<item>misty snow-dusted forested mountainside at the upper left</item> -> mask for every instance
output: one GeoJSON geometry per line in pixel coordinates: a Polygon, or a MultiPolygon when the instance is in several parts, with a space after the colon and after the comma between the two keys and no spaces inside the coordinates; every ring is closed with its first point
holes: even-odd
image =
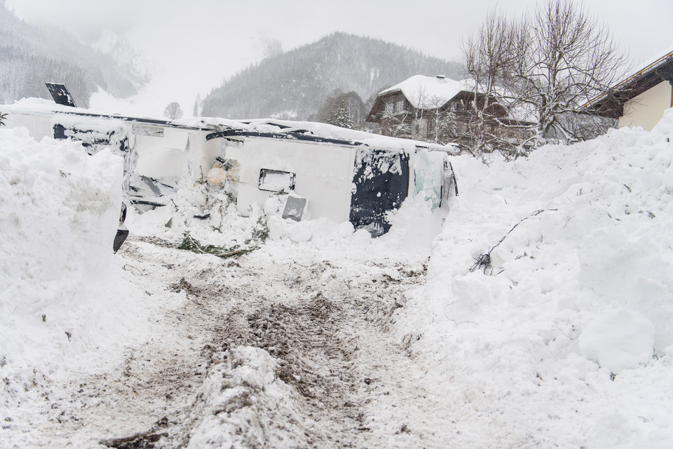
{"type": "Polygon", "coordinates": [[[65,83],[81,107],[88,106],[97,86],[125,98],[137,93],[142,82],[111,56],[94,51],[73,36],[20,20],[0,0],[0,103],[24,97],[50,98],[46,81],[65,83]]]}

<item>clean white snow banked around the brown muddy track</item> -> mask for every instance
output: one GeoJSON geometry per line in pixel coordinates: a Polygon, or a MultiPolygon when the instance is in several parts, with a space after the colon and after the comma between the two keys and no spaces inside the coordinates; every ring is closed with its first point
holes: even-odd
{"type": "MultiPolygon", "coordinates": [[[[348,223],[272,216],[266,243],[236,263],[261,271],[280,270],[274,265],[289,260],[304,267],[332,263],[323,273],[329,276],[316,281],[339,307],[348,304],[338,302],[343,286],[330,279],[366,286],[362,291],[373,301],[383,287],[374,279],[399,280],[404,270],[394,267],[417,272],[427,263],[417,285],[395,290],[402,297],[384,326],[376,325],[377,337],[362,337],[366,328],[354,326],[362,329],[358,335],[369,368],[400,378],[397,387],[387,387],[393,398],[402,401],[412,384],[428,392],[425,398],[425,393],[407,397],[408,406],[397,403],[408,416],[409,434],[406,423],[395,429],[372,424],[396,409],[384,401],[388,395],[361,392],[372,399],[362,408],[362,420],[374,429],[376,438],[369,441],[378,447],[401,444],[400,435],[409,435],[417,438],[409,444],[438,448],[668,448],[673,441],[671,138],[673,109],[651,132],[611,130],[590,142],[542,147],[514,162],[458,156],[452,163],[461,195],[446,216],[409,199],[379,239],[353,232],[348,223]],[[489,251],[491,264],[472,270],[489,251]],[[377,354],[379,339],[412,361],[406,371],[400,370],[402,361],[377,354]],[[429,438],[433,426],[437,434],[429,438]]],[[[53,420],[46,424],[53,412],[46,410],[45,397],[67,397],[64,385],[72,378],[109,375],[129,352],[159,335],[167,351],[171,344],[184,344],[167,337],[165,317],[187,307],[189,295],[167,290],[166,273],[179,279],[179,272],[172,272],[179,269],[196,276],[199,264],[216,264],[228,273],[228,265],[212,256],[172,248],[161,249],[161,257],[177,260],[175,267],[149,264],[144,260],[159,257],[151,243],[130,241],[127,255],[123,250],[111,255],[121,201],[117,186],[121,160],[108,152],[86,156],[73,142],[37,143],[25,130],[0,129],[0,447],[48,445],[53,436],[45,432],[59,427],[53,420]]],[[[178,241],[189,229],[202,241],[227,246],[249,239],[262,212],[250,218],[220,213],[216,232],[212,223],[193,218],[205,204],[217,207],[192,206],[203,201],[202,188],[179,192],[176,210],[130,214],[132,234],[178,241]],[[171,216],[172,227],[165,227],[171,216]]],[[[245,279],[243,290],[273,287],[264,284],[268,279],[241,273],[231,265],[233,281],[239,275],[245,279]]],[[[254,344],[232,350],[229,357],[240,364],[218,363],[202,373],[208,381],[193,393],[206,399],[193,410],[224,401],[205,391],[218,370],[229,370],[231,379],[243,382],[239,385],[273,385],[260,388],[290,410],[285,416],[299,413],[292,382],[274,377],[278,357],[254,344]],[[240,367],[245,373],[236,371],[240,367]]],[[[355,360],[364,369],[364,359],[355,360]]],[[[101,401],[114,401],[115,394],[110,390],[101,401]]],[[[264,405],[274,407],[273,401],[264,405]]],[[[292,425],[302,422],[290,418],[292,425]]],[[[142,431],[138,423],[147,430],[148,419],[121,422],[115,431],[142,431]]],[[[229,441],[227,432],[235,427],[222,422],[206,426],[210,434],[199,433],[198,422],[195,418],[191,428],[195,442],[212,432],[220,432],[218,441],[229,441]]],[[[273,445],[311,444],[293,441],[293,434],[301,435],[295,430],[274,434],[273,445]]],[[[64,430],[57,441],[90,447],[92,437],[81,432],[64,430]]]]}

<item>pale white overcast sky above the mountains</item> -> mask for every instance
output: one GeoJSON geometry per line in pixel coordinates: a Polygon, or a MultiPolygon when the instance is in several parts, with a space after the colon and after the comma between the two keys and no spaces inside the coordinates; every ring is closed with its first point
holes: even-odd
{"type": "MultiPolygon", "coordinates": [[[[461,39],[489,8],[518,17],[534,0],[6,0],[24,20],[93,39],[104,29],[125,33],[163,83],[208,93],[226,77],[263,58],[266,43],[287,51],[344,31],[460,60],[461,39]],[[186,81],[191,87],[186,88],[186,81]]],[[[586,0],[590,13],[638,65],[673,45],[673,0],[586,0]]],[[[186,93],[185,93],[186,97],[186,93]]],[[[193,101],[193,100],[192,100],[193,101]]],[[[189,107],[191,109],[191,106],[189,107]]]]}

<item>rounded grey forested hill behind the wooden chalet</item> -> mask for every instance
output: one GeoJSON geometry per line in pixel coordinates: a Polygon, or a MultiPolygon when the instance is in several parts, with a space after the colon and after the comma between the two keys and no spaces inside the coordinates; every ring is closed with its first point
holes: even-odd
{"type": "Polygon", "coordinates": [[[461,65],[379,39],[334,33],[239,72],[205,97],[201,114],[320,119],[318,110],[335,91],[353,91],[371,105],[373,95],[416,74],[459,78],[461,65]]]}

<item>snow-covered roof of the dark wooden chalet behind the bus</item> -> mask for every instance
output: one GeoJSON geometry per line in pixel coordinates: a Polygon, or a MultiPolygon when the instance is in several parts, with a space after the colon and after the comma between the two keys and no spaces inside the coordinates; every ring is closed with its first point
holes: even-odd
{"type": "Polygon", "coordinates": [[[395,91],[405,95],[416,109],[436,109],[442,107],[463,91],[474,90],[472,79],[456,81],[445,76],[414,75],[399,84],[379,93],[379,97],[395,91]]]}

